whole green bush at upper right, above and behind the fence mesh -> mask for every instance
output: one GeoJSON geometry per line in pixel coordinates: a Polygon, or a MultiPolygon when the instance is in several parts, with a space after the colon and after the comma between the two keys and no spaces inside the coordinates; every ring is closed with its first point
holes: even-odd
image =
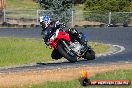
{"type": "MultiPolygon", "coordinates": [[[[108,23],[109,12],[132,11],[131,0],[86,0],[84,10],[92,13],[84,13],[84,18],[89,21],[108,23]]],[[[111,23],[124,23],[131,17],[131,14],[113,13],[111,23]]]]}

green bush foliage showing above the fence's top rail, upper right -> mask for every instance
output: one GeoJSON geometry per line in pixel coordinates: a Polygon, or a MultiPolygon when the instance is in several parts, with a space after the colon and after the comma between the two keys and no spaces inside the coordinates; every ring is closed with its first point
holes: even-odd
{"type": "Polygon", "coordinates": [[[119,12],[130,11],[131,0],[86,0],[85,10],[119,12]]]}

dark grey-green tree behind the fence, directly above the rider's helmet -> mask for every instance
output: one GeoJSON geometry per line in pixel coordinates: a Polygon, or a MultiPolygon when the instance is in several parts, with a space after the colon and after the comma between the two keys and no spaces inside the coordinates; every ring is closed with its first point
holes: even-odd
{"type": "Polygon", "coordinates": [[[50,10],[47,14],[54,20],[69,22],[71,17],[72,0],[39,0],[41,9],[50,10]]]}

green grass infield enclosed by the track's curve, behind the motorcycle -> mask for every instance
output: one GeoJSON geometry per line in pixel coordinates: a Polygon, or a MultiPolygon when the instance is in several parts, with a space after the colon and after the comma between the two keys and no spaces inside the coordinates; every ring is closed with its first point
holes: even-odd
{"type": "MultiPolygon", "coordinates": [[[[96,53],[105,52],[109,48],[95,42],[90,42],[90,45],[96,53]]],[[[41,39],[0,38],[0,67],[51,61],[51,52],[41,39]]]]}

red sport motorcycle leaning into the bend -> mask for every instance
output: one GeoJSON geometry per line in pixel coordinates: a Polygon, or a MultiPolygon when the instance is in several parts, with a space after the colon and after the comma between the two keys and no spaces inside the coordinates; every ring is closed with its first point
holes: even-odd
{"type": "Polygon", "coordinates": [[[79,58],[95,59],[95,52],[87,44],[86,35],[78,33],[76,29],[71,28],[68,31],[64,31],[63,28],[56,29],[48,42],[49,46],[54,48],[52,59],[58,60],[64,57],[71,63],[79,58]]]}

